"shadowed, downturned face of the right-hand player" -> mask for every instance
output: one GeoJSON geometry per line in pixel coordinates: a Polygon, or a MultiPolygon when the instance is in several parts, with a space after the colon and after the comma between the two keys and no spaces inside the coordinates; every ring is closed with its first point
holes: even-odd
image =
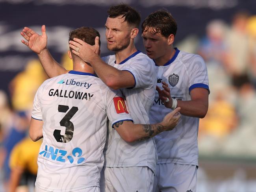
{"type": "Polygon", "coordinates": [[[143,38],[143,44],[146,53],[150,59],[160,59],[169,54],[168,38],[163,37],[160,33],[150,33],[150,30],[143,31],[141,37],[143,38]]]}

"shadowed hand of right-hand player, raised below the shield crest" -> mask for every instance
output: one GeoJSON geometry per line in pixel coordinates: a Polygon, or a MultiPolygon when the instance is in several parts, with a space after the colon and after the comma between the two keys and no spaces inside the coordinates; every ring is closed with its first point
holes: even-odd
{"type": "Polygon", "coordinates": [[[171,99],[171,92],[170,88],[168,87],[168,84],[164,81],[162,82],[163,89],[160,89],[158,86],[156,86],[156,90],[158,91],[160,100],[164,103],[165,107],[170,108],[173,105],[173,100],[171,99]]]}

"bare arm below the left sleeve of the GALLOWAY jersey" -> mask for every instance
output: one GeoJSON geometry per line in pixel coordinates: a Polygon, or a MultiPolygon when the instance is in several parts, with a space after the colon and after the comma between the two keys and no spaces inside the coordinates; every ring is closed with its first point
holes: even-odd
{"type": "Polygon", "coordinates": [[[31,118],[29,127],[29,136],[33,141],[43,138],[43,121],[31,118]]]}

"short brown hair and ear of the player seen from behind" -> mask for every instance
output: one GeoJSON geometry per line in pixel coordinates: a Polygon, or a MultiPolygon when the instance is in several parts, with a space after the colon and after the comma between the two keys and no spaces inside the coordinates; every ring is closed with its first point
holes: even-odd
{"type": "MultiPolygon", "coordinates": [[[[95,45],[95,37],[97,36],[100,37],[100,33],[97,30],[91,27],[80,27],[73,31],[70,31],[69,41],[73,41],[74,38],[78,38],[90,45],[95,45]]],[[[100,45],[100,39],[99,39],[99,45],[100,45]]],[[[69,48],[69,49],[70,49],[69,55],[71,54],[71,57],[73,59],[77,58],[78,56],[72,53],[73,49],[72,48],[69,48]]]]}

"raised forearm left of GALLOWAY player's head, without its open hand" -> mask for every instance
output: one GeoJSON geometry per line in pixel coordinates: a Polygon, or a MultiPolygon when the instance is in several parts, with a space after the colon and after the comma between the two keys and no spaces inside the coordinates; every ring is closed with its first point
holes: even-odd
{"type": "Polygon", "coordinates": [[[63,66],[59,65],[57,61],[55,61],[48,49],[44,49],[40,54],[37,55],[49,78],[67,73],[67,70],[65,70],[63,66]]]}

